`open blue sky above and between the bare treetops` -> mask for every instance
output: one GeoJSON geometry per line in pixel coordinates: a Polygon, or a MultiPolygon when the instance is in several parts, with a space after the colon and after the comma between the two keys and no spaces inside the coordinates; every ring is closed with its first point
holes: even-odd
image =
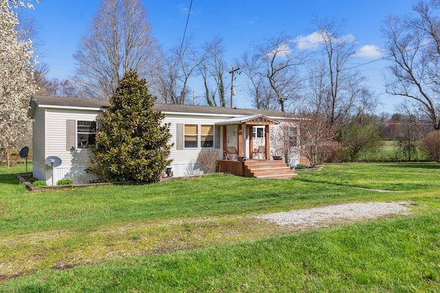
{"type": "MultiPolygon", "coordinates": [[[[50,65],[50,77],[69,78],[74,74],[72,54],[80,37],[87,32],[87,25],[100,0],[44,0],[29,12],[41,25],[44,56],[41,60],[50,65]]],[[[181,42],[184,34],[190,0],[144,0],[155,38],[163,49],[181,42]]],[[[345,34],[351,34],[360,47],[381,48],[384,39],[380,33],[382,21],[388,14],[407,14],[416,1],[409,0],[193,0],[187,35],[192,34],[196,43],[204,43],[214,36],[223,36],[226,49],[225,60],[233,61],[264,37],[286,32],[294,38],[307,40],[313,33],[312,21],[334,19],[345,21],[345,34]],[[373,47],[374,46],[374,47],[373,47]]],[[[38,53],[37,53],[38,54],[38,53]]],[[[353,60],[353,65],[380,58],[363,54],[353,60]]],[[[369,86],[380,96],[383,107],[377,108],[393,113],[398,97],[384,94],[380,70],[386,62],[373,62],[359,69],[369,78],[369,86]]],[[[240,86],[237,81],[237,86],[240,86]]],[[[197,89],[200,91],[201,89],[197,89]]],[[[239,89],[238,89],[239,90],[239,89]]],[[[244,93],[234,97],[234,106],[250,107],[244,93]],[[241,96],[240,96],[241,95],[241,96]]],[[[196,94],[197,95],[197,94],[196,94]]]]}

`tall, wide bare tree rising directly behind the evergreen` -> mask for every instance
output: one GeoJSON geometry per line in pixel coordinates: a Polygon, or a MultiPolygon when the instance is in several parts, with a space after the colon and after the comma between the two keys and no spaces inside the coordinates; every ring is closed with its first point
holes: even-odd
{"type": "Polygon", "coordinates": [[[81,91],[108,99],[128,71],[155,88],[162,53],[140,0],[104,0],[74,54],[81,91]]]}

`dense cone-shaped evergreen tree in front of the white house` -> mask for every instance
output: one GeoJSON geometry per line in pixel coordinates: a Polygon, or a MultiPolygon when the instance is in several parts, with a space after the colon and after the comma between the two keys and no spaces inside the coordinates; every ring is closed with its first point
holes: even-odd
{"type": "Polygon", "coordinates": [[[129,71],[98,119],[95,156],[114,178],[156,182],[171,163],[169,124],[162,124],[164,114],[153,110],[154,101],[146,81],[129,71]]]}

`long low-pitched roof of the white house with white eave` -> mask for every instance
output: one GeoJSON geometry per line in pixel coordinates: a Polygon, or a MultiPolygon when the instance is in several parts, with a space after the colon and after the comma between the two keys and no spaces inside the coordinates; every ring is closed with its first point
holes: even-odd
{"type": "MultiPolygon", "coordinates": [[[[30,102],[28,111],[29,117],[34,117],[35,108],[69,108],[69,109],[90,109],[103,110],[109,106],[109,101],[104,99],[80,99],[76,97],[56,97],[35,95],[30,102]]],[[[225,108],[211,106],[190,106],[178,104],[154,104],[155,110],[163,113],[179,113],[188,115],[221,115],[221,116],[256,116],[264,115],[266,117],[285,117],[285,114],[278,110],[261,110],[261,109],[245,109],[245,108],[225,108]]]]}

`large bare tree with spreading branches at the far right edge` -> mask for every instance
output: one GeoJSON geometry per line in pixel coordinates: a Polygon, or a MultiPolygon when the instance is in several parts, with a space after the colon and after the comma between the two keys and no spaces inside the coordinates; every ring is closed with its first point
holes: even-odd
{"type": "Polygon", "coordinates": [[[388,16],[382,27],[392,64],[386,92],[412,99],[435,129],[440,129],[440,1],[419,1],[415,17],[388,16]]]}

